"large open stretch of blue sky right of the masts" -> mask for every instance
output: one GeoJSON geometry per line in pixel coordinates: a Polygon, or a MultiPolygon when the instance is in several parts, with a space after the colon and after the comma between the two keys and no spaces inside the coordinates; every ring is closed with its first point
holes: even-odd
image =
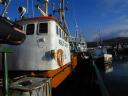
{"type": "Polygon", "coordinates": [[[128,0],[72,0],[81,32],[87,40],[128,37],[128,0]],[[78,2],[79,1],[79,2],[78,2]]]}

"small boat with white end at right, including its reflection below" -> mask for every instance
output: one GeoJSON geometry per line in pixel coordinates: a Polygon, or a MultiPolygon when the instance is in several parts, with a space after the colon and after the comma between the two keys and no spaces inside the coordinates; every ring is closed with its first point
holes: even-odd
{"type": "Polygon", "coordinates": [[[108,54],[105,47],[99,46],[94,49],[94,59],[100,70],[104,71],[105,73],[113,71],[112,54],[108,54]]]}

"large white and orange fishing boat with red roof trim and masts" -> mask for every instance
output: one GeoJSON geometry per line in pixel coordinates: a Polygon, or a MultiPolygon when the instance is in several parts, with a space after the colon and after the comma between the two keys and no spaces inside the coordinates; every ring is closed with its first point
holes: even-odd
{"type": "MultiPolygon", "coordinates": [[[[42,16],[16,21],[25,31],[26,39],[9,56],[9,71],[14,75],[51,78],[52,88],[59,86],[77,65],[77,57],[70,52],[69,33],[65,24],[64,0],[60,0],[60,18],[48,15],[48,0],[44,0],[42,16]]],[[[24,7],[19,8],[20,13],[24,7]]]]}

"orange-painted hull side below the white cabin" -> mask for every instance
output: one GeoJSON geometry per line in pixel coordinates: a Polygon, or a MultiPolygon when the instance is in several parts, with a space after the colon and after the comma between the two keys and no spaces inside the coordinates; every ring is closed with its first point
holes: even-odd
{"type": "Polygon", "coordinates": [[[43,71],[43,72],[37,72],[32,74],[35,76],[35,74],[40,77],[49,77],[51,79],[51,85],[52,88],[56,88],[61,84],[67,76],[70,75],[70,73],[74,70],[74,68],[77,66],[77,56],[72,55],[71,56],[71,63],[70,64],[65,64],[64,66],[56,69],[56,70],[48,70],[48,71],[43,71]]]}

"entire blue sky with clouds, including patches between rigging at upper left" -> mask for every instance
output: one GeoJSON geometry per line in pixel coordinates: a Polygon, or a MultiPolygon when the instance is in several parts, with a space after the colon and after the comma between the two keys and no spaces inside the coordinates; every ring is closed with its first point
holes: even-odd
{"type": "MultiPolygon", "coordinates": [[[[26,6],[27,0],[12,0],[8,16],[18,18],[17,7],[26,6]]],[[[29,15],[32,14],[31,0],[29,15]]],[[[49,0],[53,2],[57,0],[49,0]]],[[[59,0],[58,0],[59,1],[59,0]]],[[[101,33],[103,39],[113,37],[128,37],[128,0],[65,0],[68,11],[66,18],[71,34],[75,31],[75,18],[79,30],[87,41],[95,40],[101,33]]],[[[36,0],[34,0],[36,2],[36,0]]],[[[34,3],[35,5],[35,3],[34,3]]],[[[0,6],[0,12],[3,6],[0,6]]],[[[35,15],[39,12],[35,10],[35,15]]]]}

